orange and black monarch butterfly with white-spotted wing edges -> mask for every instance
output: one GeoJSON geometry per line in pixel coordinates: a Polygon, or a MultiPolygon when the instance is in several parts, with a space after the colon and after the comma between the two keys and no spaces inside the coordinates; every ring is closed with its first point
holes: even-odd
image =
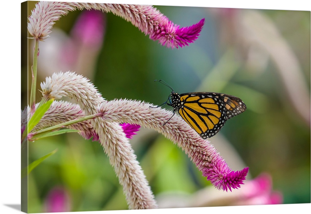
{"type": "MultiPolygon", "coordinates": [[[[172,89],[163,80],[155,81],[165,84],[172,89]]],[[[213,92],[178,94],[173,89],[167,101],[162,105],[165,104],[172,106],[174,114],[177,111],[203,139],[217,134],[227,120],[246,110],[244,102],[232,95],[213,92]]]]}

